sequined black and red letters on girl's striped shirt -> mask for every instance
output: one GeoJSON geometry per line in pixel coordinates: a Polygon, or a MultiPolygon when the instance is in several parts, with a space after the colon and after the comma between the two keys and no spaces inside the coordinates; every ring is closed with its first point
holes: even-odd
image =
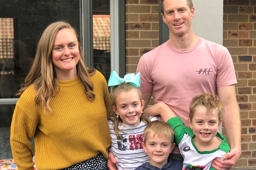
{"type": "MultiPolygon", "coordinates": [[[[118,149],[121,150],[121,151],[125,151],[127,150],[127,145],[128,145],[128,142],[127,142],[127,138],[122,135],[121,136],[123,138],[123,140],[117,140],[117,146],[118,146],[118,149]]],[[[138,150],[138,149],[143,149],[142,147],[142,143],[143,142],[143,135],[142,133],[138,133],[136,134],[136,137],[135,135],[129,135],[129,149],[130,150],[138,150]]]]}

